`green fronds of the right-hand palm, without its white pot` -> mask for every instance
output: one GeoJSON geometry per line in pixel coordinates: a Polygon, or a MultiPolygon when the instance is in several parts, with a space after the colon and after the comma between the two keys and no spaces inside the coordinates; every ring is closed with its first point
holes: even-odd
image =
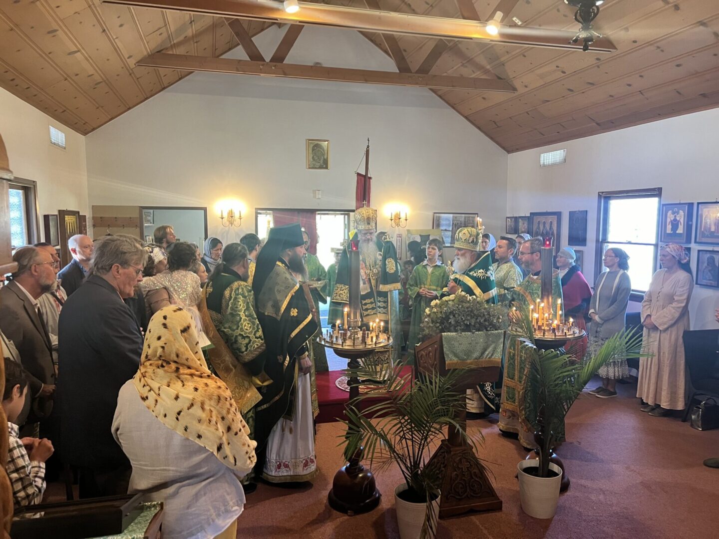
{"type": "Polygon", "coordinates": [[[536,347],[528,312],[512,327],[513,334],[523,346],[529,364],[525,381],[524,415],[538,435],[539,476],[546,477],[549,457],[562,431],[564,418],[582,389],[608,361],[627,357],[646,357],[641,351],[641,333],[633,329],[620,331],[609,338],[593,357],[577,361],[570,354],[536,347]]]}

